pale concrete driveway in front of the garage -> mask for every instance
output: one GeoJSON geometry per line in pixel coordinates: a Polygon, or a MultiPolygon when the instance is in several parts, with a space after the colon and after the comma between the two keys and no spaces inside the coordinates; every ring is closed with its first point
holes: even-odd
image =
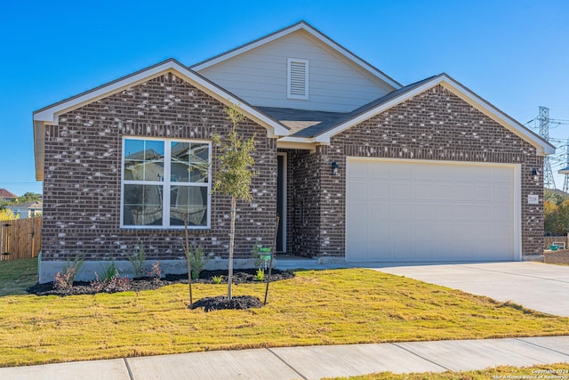
{"type": "Polygon", "coordinates": [[[569,266],[532,262],[388,265],[360,266],[569,317],[569,266]]]}

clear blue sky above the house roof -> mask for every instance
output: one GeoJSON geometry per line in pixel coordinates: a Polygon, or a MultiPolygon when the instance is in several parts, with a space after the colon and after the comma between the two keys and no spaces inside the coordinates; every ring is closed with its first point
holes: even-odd
{"type": "Polygon", "coordinates": [[[446,72],[522,124],[549,107],[564,120],[550,135],[569,139],[566,0],[4,0],[0,188],[42,190],[34,110],[167,58],[203,61],[299,20],[403,85],[446,72]]]}

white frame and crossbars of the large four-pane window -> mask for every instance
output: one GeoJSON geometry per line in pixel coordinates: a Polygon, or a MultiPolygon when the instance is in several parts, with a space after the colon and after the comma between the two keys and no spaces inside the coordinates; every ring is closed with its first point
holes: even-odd
{"type": "Polygon", "coordinates": [[[173,186],[196,186],[205,187],[203,184],[198,182],[172,182],[171,181],[171,162],[172,162],[172,141],[178,142],[197,142],[197,143],[207,143],[208,144],[208,173],[207,173],[207,222],[204,226],[190,226],[188,225],[188,230],[209,230],[212,228],[212,141],[204,140],[191,140],[191,139],[163,139],[156,137],[146,137],[146,136],[123,136],[122,150],[121,150],[121,209],[120,209],[120,228],[128,230],[183,230],[184,226],[171,226],[170,225],[170,193],[171,187],[173,186]],[[164,181],[132,181],[129,180],[127,184],[132,185],[159,185],[162,186],[163,193],[163,207],[162,207],[162,221],[163,225],[131,225],[124,224],[124,141],[126,140],[143,140],[143,141],[164,141],[164,181]]]}

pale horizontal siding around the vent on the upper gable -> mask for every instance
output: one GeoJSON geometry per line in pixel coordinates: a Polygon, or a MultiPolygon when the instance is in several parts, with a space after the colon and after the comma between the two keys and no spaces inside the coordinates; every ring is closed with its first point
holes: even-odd
{"type": "Polygon", "coordinates": [[[348,112],[393,89],[299,31],[200,71],[255,106],[348,112]],[[287,98],[287,61],[309,61],[309,99],[287,98]]]}

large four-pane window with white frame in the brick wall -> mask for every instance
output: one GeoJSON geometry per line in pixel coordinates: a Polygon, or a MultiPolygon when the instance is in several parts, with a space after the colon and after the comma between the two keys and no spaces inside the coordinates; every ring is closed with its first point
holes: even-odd
{"type": "Polygon", "coordinates": [[[121,227],[210,227],[210,151],[206,141],[123,140],[121,227]]]}

